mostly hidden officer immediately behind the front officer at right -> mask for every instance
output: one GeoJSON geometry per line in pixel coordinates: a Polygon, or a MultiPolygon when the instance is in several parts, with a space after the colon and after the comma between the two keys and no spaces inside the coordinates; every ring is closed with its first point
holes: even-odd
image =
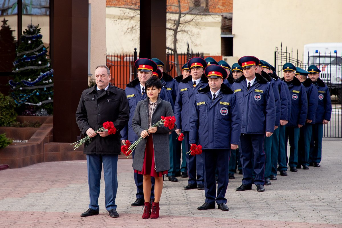
{"type": "MultiPolygon", "coordinates": [[[[275,80],[268,75],[269,68],[271,68],[266,61],[260,60],[261,65],[257,66],[257,73],[260,72],[260,75],[264,77],[269,83],[272,85],[274,100],[276,105],[276,121],[274,126],[274,131],[278,129],[280,125],[280,112],[281,112],[281,103],[278,86],[275,80]]],[[[272,174],[272,139],[273,137],[266,137],[264,142],[264,151],[266,155],[265,162],[265,185],[271,185],[271,174],[272,174]]],[[[278,156],[277,156],[278,157],[278,156]]]]}

